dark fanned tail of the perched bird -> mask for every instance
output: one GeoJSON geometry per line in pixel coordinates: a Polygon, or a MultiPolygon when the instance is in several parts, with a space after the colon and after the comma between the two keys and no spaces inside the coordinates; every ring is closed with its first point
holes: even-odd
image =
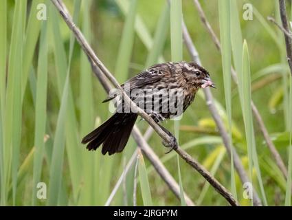
{"type": "Polygon", "coordinates": [[[94,150],[102,144],[102,154],[109,155],[121,152],[137,119],[136,113],[115,113],[109,120],[104,122],[94,131],[83,137],[82,144],[87,144],[89,151],[94,150]]]}

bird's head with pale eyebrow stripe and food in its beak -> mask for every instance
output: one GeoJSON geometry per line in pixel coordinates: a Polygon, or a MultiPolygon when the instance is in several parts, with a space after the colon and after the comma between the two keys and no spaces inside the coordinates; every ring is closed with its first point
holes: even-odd
{"type": "Polygon", "coordinates": [[[210,74],[206,69],[194,62],[183,62],[183,72],[187,73],[187,76],[196,84],[197,87],[213,87],[216,88],[210,74]]]}

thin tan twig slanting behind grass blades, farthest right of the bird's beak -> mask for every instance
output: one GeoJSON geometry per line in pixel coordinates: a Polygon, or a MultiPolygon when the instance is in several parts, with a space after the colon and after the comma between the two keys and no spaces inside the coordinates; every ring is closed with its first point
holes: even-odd
{"type": "MultiPolygon", "coordinates": [[[[201,18],[201,21],[203,22],[203,24],[205,25],[205,28],[207,29],[207,32],[209,32],[212,36],[212,39],[217,47],[217,49],[219,50],[219,52],[221,52],[221,45],[220,45],[220,41],[218,40],[218,37],[216,36],[216,34],[214,33],[214,31],[212,30],[212,27],[210,25],[209,22],[207,22],[207,18],[205,16],[205,12],[203,11],[203,9],[201,8],[201,4],[199,3],[198,0],[194,0],[194,4],[196,5],[196,9],[199,12],[199,17],[201,18]]],[[[234,82],[236,83],[236,85],[238,84],[238,80],[237,80],[237,74],[236,71],[234,70],[234,68],[232,67],[232,78],[234,79],[234,82]]],[[[282,171],[284,177],[287,177],[287,168],[284,165],[284,162],[280,156],[280,154],[278,153],[275,145],[273,144],[273,142],[271,141],[271,137],[269,136],[269,132],[267,131],[267,128],[265,126],[265,123],[262,120],[261,115],[258,113],[258,109],[256,107],[256,105],[254,104],[254,102],[251,100],[251,109],[254,113],[254,116],[256,118],[256,121],[258,122],[258,126],[260,128],[260,131],[262,132],[262,135],[265,138],[265,141],[267,143],[267,146],[269,147],[269,150],[271,151],[271,155],[273,155],[273,158],[276,161],[276,164],[278,165],[278,167],[280,168],[280,170],[282,171]]],[[[241,162],[240,162],[241,164],[241,162]]],[[[240,179],[245,182],[243,180],[242,177],[240,177],[240,179]]],[[[255,191],[255,190],[254,190],[255,191]]]]}

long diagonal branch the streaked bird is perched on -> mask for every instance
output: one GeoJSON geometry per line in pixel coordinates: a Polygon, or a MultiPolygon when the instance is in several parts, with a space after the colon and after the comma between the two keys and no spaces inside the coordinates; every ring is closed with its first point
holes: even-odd
{"type": "MultiPolygon", "coordinates": [[[[63,2],[61,0],[51,0],[51,1],[52,3],[54,3],[58,11],[60,12],[60,15],[63,17],[65,23],[67,23],[69,29],[74,33],[74,36],[76,37],[76,40],[78,41],[78,43],[81,45],[82,50],[85,52],[85,54],[87,54],[87,56],[89,56],[90,58],[89,61],[92,61],[94,63],[93,65],[96,65],[101,70],[101,72],[106,76],[106,78],[108,78],[117,89],[120,89],[125,102],[127,104],[130,104],[131,107],[133,107],[133,109],[137,111],[137,113],[142,118],[144,118],[148,122],[148,124],[150,124],[150,126],[153,127],[156,133],[158,133],[166,142],[170,143],[172,141],[172,138],[166,132],[164,132],[161,129],[161,127],[158,124],[156,124],[156,122],[152,118],[150,118],[150,116],[147,113],[145,113],[145,111],[143,111],[142,109],[139,109],[139,107],[137,107],[137,105],[132,102],[132,100],[123,91],[122,87],[120,87],[119,83],[117,83],[117,80],[115,80],[115,77],[111,74],[111,72],[109,72],[109,70],[104,66],[104,64],[98,59],[98,57],[96,56],[96,54],[93,52],[92,48],[90,47],[89,43],[85,39],[85,36],[83,36],[82,32],[80,32],[80,30],[76,27],[76,25],[72,21],[71,16],[69,12],[67,12],[66,6],[63,4],[63,2]]],[[[139,146],[148,145],[147,142],[142,137],[142,134],[139,133],[137,126],[134,127],[132,134],[139,146]]],[[[232,197],[232,194],[224,186],[222,186],[214,177],[212,177],[212,175],[210,175],[210,173],[208,173],[203,168],[203,166],[201,166],[201,164],[196,162],[195,159],[193,159],[190,155],[188,155],[186,151],[183,151],[179,146],[175,151],[181,156],[181,158],[183,158],[188,164],[190,164],[192,168],[196,169],[201,175],[203,175],[203,177],[205,177],[205,179],[209,181],[209,183],[215,188],[215,190],[217,190],[232,206],[238,206],[238,202],[234,199],[234,197],[232,197]]],[[[158,158],[157,160],[158,162],[160,162],[158,158]]]]}

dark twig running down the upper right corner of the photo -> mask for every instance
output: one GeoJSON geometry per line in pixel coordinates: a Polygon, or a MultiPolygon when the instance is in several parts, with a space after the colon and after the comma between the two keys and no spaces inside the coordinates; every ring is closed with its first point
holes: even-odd
{"type": "Polygon", "coordinates": [[[282,21],[282,26],[285,30],[284,37],[285,37],[285,45],[286,45],[286,52],[287,52],[287,61],[290,68],[290,73],[292,75],[292,41],[291,37],[286,34],[286,32],[290,33],[289,23],[287,19],[287,12],[286,12],[286,5],[284,0],[279,0],[279,7],[280,7],[280,17],[282,21]]]}

